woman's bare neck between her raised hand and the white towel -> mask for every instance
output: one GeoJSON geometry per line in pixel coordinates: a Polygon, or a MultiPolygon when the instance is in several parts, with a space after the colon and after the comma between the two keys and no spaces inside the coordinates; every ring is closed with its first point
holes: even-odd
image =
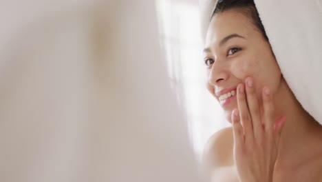
{"type": "Polygon", "coordinates": [[[281,131],[277,160],[288,164],[298,161],[294,159],[305,160],[305,156],[317,152],[308,150],[311,146],[316,148],[321,145],[322,126],[302,108],[284,79],[273,97],[276,116],[286,116],[286,123],[281,131]]]}

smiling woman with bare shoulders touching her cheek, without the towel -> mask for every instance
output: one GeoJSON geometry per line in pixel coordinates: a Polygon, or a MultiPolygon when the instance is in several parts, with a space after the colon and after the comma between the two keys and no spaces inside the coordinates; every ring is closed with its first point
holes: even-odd
{"type": "Polygon", "coordinates": [[[283,78],[253,1],[217,3],[204,62],[233,125],[206,146],[213,181],[322,181],[322,126],[283,78]]]}

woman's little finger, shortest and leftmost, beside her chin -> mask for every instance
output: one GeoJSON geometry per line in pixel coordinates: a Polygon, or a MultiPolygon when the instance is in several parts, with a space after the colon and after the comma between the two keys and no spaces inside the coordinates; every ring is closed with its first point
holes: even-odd
{"type": "Polygon", "coordinates": [[[239,110],[233,110],[231,117],[231,121],[233,123],[234,142],[237,148],[241,148],[242,146],[244,146],[242,145],[244,143],[244,130],[243,126],[239,122],[239,110]]]}

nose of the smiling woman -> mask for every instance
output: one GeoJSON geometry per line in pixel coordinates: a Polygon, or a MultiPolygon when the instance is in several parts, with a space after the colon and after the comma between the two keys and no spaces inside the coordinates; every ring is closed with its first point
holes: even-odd
{"type": "Polygon", "coordinates": [[[210,85],[220,85],[228,80],[230,72],[226,63],[217,60],[211,67],[211,72],[208,75],[208,82],[210,85]]]}

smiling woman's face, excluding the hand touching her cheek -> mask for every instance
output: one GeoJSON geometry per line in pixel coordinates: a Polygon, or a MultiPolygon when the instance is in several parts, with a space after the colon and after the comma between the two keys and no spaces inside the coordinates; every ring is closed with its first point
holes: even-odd
{"type": "Polygon", "coordinates": [[[270,44],[251,19],[237,10],[219,12],[211,20],[204,61],[208,64],[207,88],[222,105],[230,123],[231,113],[237,108],[237,85],[244,83],[246,77],[253,77],[260,104],[262,88],[266,85],[274,94],[281,83],[281,71],[270,44]]]}

